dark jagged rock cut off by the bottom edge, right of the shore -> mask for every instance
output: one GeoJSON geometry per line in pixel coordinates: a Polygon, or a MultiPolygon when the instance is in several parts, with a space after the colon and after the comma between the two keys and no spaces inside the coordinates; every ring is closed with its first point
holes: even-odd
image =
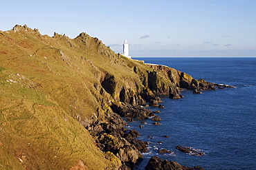
{"type": "Polygon", "coordinates": [[[152,156],[152,158],[150,158],[145,169],[146,170],[156,170],[156,169],[158,170],[167,170],[167,169],[168,170],[203,170],[203,168],[198,166],[194,168],[185,167],[176,161],[162,160],[157,156],[152,156]]]}

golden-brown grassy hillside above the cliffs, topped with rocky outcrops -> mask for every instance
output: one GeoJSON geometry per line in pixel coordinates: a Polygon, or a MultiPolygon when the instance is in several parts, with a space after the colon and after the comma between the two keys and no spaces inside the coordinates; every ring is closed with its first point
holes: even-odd
{"type": "Polygon", "coordinates": [[[110,110],[105,76],[138,78],[127,59],[86,34],[49,37],[26,25],[0,41],[0,167],[117,169],[80,123],[104,121],[110,110]]]}

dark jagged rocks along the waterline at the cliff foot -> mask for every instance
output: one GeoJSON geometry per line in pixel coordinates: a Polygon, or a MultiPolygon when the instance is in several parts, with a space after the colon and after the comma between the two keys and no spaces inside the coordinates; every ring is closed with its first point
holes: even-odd
{"type": "MultiPolygon", "coordinates": [[[[218,85],[216,83],[207,83],[209,87],[200,87],[199,89],[214,89],[215,87],[231,87],[231,86],[223,86],[218,85]]],[[[192,92],[194,93],[194,90],[192,92]]],[[[197,88],[196,88],[197,90],[197,88]]],[[[197,90],[198,91],[198,90],[197,90]]],[[[199,92],[199,91],[198,91],[199,92]]],[[[179,94],[180,95],[180,94],[179,94]]],[[[180,95],[181,96],[181,95],[180,95]]],[[[171,97],[172,98],[172,97],[171,97]]],[[[153,97],[149,100],[149,106],[151,107],[159,107],[159,103],[161,103],[161,98],[153,97]]],[[[164,108],[163,106],[161,106],[164,108]]],[[[133,106],[130,104],[125,104],[118,102],[116,100],[112,100],[111,109],[113,110],[113,114],[109,115],[109,120],[107,123],[102,123],[100,125],[91,125],[90,128],[87,128],[93,136],[97,136],[95,142],[98,147],[104,151],[110,151],[115,156],[117,156],[122,161],[122,167],[120,169],[133,169],[134,165],[138,164],[141,160],[143,160],[143,156],[141,153],[147,152],[147,147],[149,145],[148,142],[144,142],[142,140],[138,140],[140,136],[139,132],[135,129],[126,129],[127,125],[125,121],[121,117],[127,118],[127,122],[133,121],[133,119],[148,119],[151,118],[152,121],[160,121],[161,118],[157,116],[155,113],[160,113],[160,111],[151,111],[145,107],[133,106]]],[[[142,122],[143,124],[143,122],[142,122]]],[[[160,123],[153,123],[154,125],[161,125],[160,123]]],[[[142,127],[142,126],[141,126],[142,127]]],[[[164,136],[168,138],[168,136],[164,136]]],[[[198,151],[196,149],[192,149],[191,147],[183,147],[177,146],[176,149],[179,149],[185,153],[190,153],[190,155],[194,156],[203,156],[205,153],[198,151]]],[[[172,151],[167,151],[166,149],[162,149],[159,153],[172,153],[172,151]]],[[[153,156],[152,159],[149,160],[146,169],[200,169],[202,167],[185,167],[180,165],[178,162],[172,162],[167,160],[161,160],[157,156],[153,156]]]]}

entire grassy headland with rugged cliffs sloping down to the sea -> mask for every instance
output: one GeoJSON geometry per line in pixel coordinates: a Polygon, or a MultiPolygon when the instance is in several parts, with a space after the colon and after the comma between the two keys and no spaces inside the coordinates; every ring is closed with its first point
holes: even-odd
{"type": "Polygon", "coordinates": [[[180,88],[214,89],[115,54],[86,33],[51,37],[26,25],[0,31],[0,61],[3,169],[127,169],[146,144],[119,115],[149,117],[136,106],[156,94],[181,98],[180,88]]]}

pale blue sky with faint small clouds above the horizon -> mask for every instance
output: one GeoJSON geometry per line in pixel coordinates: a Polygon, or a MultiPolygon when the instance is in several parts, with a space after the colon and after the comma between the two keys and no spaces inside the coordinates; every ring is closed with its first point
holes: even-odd
{"type": "Polygon", "coordinates": [[[74,39],[81,32],[135,56],[255,56],[255,0],[0,0],[0,30],[15,25],[74,39]]]}

